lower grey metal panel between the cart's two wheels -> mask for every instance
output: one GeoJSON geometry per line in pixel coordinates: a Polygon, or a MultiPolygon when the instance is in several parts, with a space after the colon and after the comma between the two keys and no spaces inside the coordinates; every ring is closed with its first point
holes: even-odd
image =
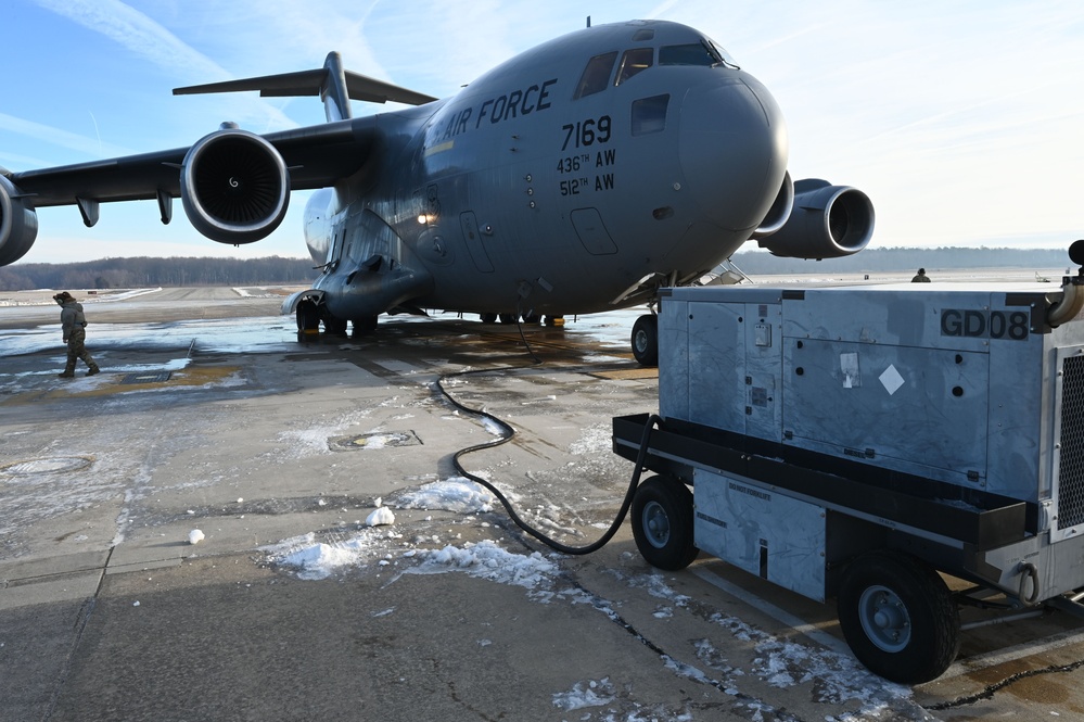
{"type": "Polygon", "coordinates": [[[736,567],[825,600],[825,509],[744,479],[697,469],[697,546],[736,567]]]}

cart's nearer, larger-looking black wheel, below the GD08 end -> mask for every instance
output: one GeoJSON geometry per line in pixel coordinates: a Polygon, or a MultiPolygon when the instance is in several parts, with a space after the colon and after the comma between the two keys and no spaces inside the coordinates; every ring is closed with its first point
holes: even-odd
{"type": "Polygon", "coordinates": [[[885,552],[858,557],[843,574],[838,603],[854,656],[888,680],[929,682],[956,659],[959,610],[944,580],[914,557],[885,552]]]}

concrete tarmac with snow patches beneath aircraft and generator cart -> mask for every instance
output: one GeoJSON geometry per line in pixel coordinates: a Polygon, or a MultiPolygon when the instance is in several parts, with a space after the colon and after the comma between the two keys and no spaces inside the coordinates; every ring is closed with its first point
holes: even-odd
{"type": "Polygon", "coordinates": [[[273,290],[111,295],[85,303],[103,372],[74,380],[48,294],[0,306],[2,721],[1084,719],[1066,615],[968,632],[909,688],[831,605],[654,570],[627,522],[566,556],[424,497],[496,438],[436,385],[484,370],[444,383],[517,435],[463,464],[562,543],[601,535],[632,473],[611,418],[658,409],[640,312],[525,327],[537,363],[450,315],[299,343],[273,290]]]}

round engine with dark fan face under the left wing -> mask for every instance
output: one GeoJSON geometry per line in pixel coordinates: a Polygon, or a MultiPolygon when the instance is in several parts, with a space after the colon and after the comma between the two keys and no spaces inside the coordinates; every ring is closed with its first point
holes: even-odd
{"type": "Polygon", "coordinates": [[[189,149],[180,191],[197,231],[219,243],[252,243],[285,217],[290,174],[275,145],[253,132],[226,128],[189,149]]]}

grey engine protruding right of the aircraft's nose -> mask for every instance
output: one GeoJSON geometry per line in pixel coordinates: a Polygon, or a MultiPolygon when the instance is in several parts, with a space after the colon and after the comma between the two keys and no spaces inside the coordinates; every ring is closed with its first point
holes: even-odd
{"type": "Polygon", "coordinates": [[[773,255],[839,258],[862,251],[873,236],[873,204],[856,188],[806,178],[794,183],[794,208],[775,233],[757,238],[773,255]]]}

